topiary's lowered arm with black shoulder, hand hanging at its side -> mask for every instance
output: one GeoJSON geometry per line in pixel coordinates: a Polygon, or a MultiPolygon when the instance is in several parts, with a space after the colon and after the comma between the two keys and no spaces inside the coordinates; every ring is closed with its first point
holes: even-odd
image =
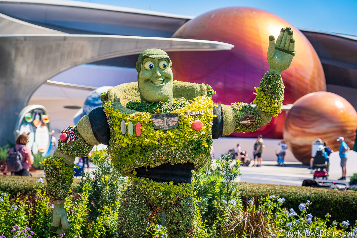
{"type": "Polygon", "coordinates": [[[53,154],[54,157],[46,158],[43,161],[48,193],[55,204],[52,212],[51,231],[57,234],[64,234],[71,227],[67,221],[64,200],[73,183],[75,156],[87,156],[94,145],[109,141],[107,134],[110,133],[107,132],[109,125],[103,108],[96,108],[89,115],[82,117],[78,125],[71,126],[66,130],[67,132],[70,130],[76,140],[68,144],[59,140],[58,148],[53,154]]]}

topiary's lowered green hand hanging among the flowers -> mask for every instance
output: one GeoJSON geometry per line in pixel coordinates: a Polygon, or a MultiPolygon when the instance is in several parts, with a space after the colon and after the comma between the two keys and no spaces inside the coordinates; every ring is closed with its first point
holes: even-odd
{"type": "Polygon", "coordinates": [[[55,204],[55,207],[52,211],[51,231],[57,234],[64,234],[71,228],[64,207],[65,201],[53,201],[53,203],[55,204]]]}

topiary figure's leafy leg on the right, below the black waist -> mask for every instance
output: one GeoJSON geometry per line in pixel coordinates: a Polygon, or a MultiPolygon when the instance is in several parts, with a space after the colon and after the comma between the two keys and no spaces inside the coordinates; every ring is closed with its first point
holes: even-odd
{"type": "Polygon", "coordinates": [[[194,238],[195,206],[191,196],[182,195],[165,209],[166,227],[170,238],[194,238]]]}

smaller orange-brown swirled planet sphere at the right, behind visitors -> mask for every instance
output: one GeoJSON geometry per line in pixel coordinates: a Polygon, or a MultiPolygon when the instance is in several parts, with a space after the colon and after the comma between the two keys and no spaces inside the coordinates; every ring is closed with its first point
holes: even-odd
{"type": "Polygon", "coordinates": [[[343,136],[353,148],[357,112],[345,98],[332,92],[313,92],[299,98],[287,113],[283,134],[288,149],[302,163],[309,164],[311,145],[317,138],[338,151],[343,136]]]}

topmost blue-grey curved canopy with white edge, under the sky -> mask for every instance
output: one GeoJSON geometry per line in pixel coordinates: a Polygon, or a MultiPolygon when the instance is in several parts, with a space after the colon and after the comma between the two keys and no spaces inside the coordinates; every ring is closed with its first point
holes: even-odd
{"type": "Polygon", "coordinates": [[[70,34],[171,37],[190,16],[61,0],[2,0],[0,12],[70,34]]]}

